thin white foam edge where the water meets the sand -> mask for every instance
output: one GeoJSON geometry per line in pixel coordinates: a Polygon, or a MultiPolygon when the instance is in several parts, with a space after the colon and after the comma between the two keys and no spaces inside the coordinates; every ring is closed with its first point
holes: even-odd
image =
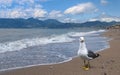
{"type": "MultiPolygon", "coordinates": [[[[102,36],[102,34],[106,32],[106,30],[103,30],[103,29],[100,29],[100,30],[95,30],[95,31],[89,31],[87,33],[90,33],[90,34],[94,34],[94,33],[100,33],[99,36],[102,36]],[[92,33],[91,33],[92,32],[92,33]]],[[[103,36],[103,38],[106,38],[103,36]]],[[[108,41],[106,40],[106,42],[108,43],[108,41]]],[[[107,49],[109,48],[109,44],[107,44],[104,48],[101,48],[97,51],[94,51],[94,52],[100,52],[100,51],[103,51],[104,49],[107,49]]],[[[9,70],[16,70],[16,69],[23,69],[23,68],[29,68],[29,67],[35,67],[35,66],[41,66],[41,65],[56,65],[56,64],[62,64],[62,63],[66,63],[66,62],[69,62],[71,61],[72,59],[78,57],[77,55],[73,56],[73,57],[69,57],[68,59],[65,59],[63,61],[60,61],[60,62],[53,62],[53,63],[41,63],[41,64],[33,64],[33,65],[26,65],[26,66],[18,66],[18,67],[12,67],[12,68],[7,68],[7,69],[1,69],[0,72],[2,71],[9,71],[9,70]]]]}

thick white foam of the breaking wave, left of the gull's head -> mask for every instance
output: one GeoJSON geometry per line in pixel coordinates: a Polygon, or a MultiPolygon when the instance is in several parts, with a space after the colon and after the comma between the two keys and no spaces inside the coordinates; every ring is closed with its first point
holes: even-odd
{"type": "Polygon", "coordinates": [[[7,51],[17,51],[31,46],[45,45],[49,43],[62,43],[71,42],[72,38],[67,37],[67,35],[60,36],[50,36],[44,38],[33,38],[33,39],[22,39],[12,42],[0,43],[0,53],[7,51]]]}

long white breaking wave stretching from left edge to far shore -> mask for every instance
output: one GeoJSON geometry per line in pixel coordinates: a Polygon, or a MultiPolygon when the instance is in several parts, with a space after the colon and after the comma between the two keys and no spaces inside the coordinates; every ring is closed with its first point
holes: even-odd
{"type": "Polygon", "coordinates": [[[21,39],[17,41],[0,43],[0,53],[8,52],[8,51],[19,51],[24,48],[46,45],[50,43],[64,43],[64,42],[72,42],[75,40],[74,38],[70,38],[70,36],[85,36],[93,33],[104,32],[105,30],[98,31],[90,31],[90,32],[70,32],[62,35],[51,35],[49,37],[43,38],[32,38],[32,39],[21,39]]]}

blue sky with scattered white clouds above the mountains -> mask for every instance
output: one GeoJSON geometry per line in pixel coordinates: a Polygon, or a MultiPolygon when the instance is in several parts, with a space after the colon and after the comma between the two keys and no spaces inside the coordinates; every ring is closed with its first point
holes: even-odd
{"type": "Polygon", "coordinates": [[[0,18],[120,22],[120,0],[0,0],[0,18]]]}

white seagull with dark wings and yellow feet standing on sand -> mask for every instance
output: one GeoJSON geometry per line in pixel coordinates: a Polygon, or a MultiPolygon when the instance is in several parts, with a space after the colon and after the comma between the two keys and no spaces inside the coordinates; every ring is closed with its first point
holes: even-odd
{"type": "Polygon", "coordinates": [[[89,70],[89,68],[90,68],[89,61],[99,57],[100,55],[98,53],[94,53],[93,51],[88,50],[86,47],[86,44],[85,44],[84,37],[80,37],[80,46],[79,46],[79,50],[78,50],[78,56],[80,56],[84,61],[83,69],[89,70]]]}

